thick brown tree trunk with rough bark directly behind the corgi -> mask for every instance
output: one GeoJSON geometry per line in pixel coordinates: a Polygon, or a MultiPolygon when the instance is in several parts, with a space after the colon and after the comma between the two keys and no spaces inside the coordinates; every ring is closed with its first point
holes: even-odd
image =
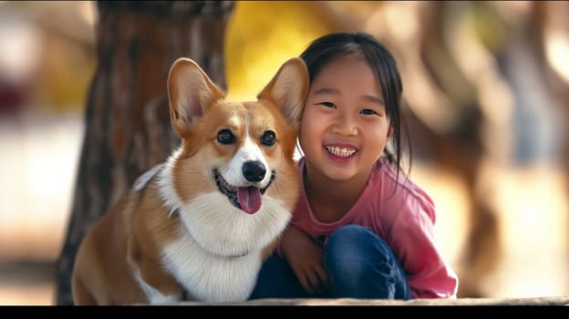
{"type": "Polygon", "coordinates": [[[56,304],[73,304],[78,244],[144,170],[170,155],[166,79],[191,57],[225,87],[223,37],[232,1],[100,1],[98,67],[88,92],[85,137],[67,236],[57,259],[56,304]]]}

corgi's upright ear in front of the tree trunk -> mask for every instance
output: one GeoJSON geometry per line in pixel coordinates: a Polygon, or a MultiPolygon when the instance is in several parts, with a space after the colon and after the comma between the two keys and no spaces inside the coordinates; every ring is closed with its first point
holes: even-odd
{"type": "Polygon", "coordinates": [[[185,57],[172,64],[167,87],[171,124],[180,138],[191,134],[191,127],[198,118],[202,118],[206,108],[225,98],[225,93],[202,67],[185,57]]]}

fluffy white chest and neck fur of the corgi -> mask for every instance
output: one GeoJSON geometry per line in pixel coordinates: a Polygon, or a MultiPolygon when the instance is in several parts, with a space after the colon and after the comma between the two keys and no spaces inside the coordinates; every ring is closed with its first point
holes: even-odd
{"type": "Polygon", "coordinates": [[[219,191],[181,203],[161,171],[162,198],[179,214],[180,239],[162,250],[162,262],[190,297],[240,302],[253,291],[262,250],[285,230],[291,214],[281,200],[264,196],[261,210],[246,214],[219,191]]]}

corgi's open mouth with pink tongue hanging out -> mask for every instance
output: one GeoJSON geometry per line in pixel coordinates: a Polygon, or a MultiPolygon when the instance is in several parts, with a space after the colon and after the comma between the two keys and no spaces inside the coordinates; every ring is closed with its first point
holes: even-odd
{"type": "Polygon", "coordinates": [[[215,183],[217,184],[218,189],[227,196],[233,206],[248,214],[254,214],[261,209],[264,191],[271,186],[274,180],[273,173],[267,186],[263,189],[258,189],[253,186],[235,187],[230,185],[227,180],[223,179],[219,170],[213,170],[213,176],[215,177],[215,183]]]}

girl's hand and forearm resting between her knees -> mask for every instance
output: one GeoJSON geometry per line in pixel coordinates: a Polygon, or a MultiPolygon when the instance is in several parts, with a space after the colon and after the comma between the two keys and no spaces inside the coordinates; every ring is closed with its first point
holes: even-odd
{"type": "Polygon", "coordinates": [[[324,252],[310,236],[289,225],[281,250],[307,293],[324,293],[327,290],[328,273],[322,263],[324,252]]]}

